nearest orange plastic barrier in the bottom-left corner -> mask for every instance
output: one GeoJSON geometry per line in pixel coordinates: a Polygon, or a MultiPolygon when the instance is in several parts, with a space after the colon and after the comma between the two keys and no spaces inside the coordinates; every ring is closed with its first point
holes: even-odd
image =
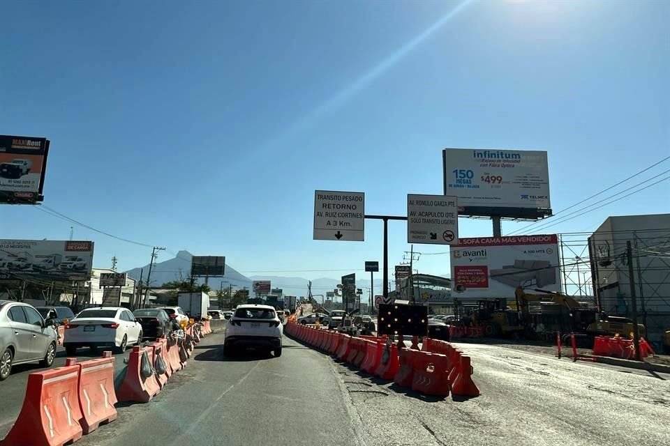
{"type": "Polygon", "coordinates": [[[75,362],[68,359],[65,367],[28,375],[21,412],[2,446],[62,446],[82,437],[75,362]]]}

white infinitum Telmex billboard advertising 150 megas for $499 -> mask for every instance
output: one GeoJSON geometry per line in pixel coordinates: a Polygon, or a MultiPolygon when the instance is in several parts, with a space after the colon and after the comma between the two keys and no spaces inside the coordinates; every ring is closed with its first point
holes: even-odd
{"type": "Polygon", "coordinates": [[[551,215],[545,151],[445,148],[444,194],[460,215],[537,219],[551,215]]]}

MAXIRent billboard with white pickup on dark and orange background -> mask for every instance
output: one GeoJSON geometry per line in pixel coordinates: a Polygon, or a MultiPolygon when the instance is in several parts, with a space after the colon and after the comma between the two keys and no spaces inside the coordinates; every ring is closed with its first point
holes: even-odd
{"type": "Polygon", "coordinates": [[[0,203],[42,201],[50,141],[0,134],[0,203]]]}

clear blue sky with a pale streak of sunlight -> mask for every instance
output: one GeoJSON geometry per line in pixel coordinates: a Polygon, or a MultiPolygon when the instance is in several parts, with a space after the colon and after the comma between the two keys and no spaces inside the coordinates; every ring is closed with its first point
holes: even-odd
{"type": "MultiPolygon", "coordinates": [[[[314,190],[365,192],[367,213],[403,215],[408,192],[442,192],[444,147],[548,151],[554,210],[670,155],[667,2],[35,1],[0,10],[10,17],[0,133],[52,141],[45,205],[172,252],[225,255],[247,275],[339,277],[381,260],[380,222],[366,223],[364,243],[312,240],[314,190]]],[[[665,181],[535,232],[669,212],[669,192],[665,181]]],[[[504,222],[503,233],[526,224],[504,222]]],[[[0,231],[66,239],[70,223],[1,206],[0,231]]],[[[461,219],[460,232],[490,235],[491,223],[461,219]]],[[[95,241],[98,267],[114,255],[122,269],[148,263],[147,247],[74,233],[95,241]]],[[[409,250],[405,223],[390,224],[389,248],[392,264],[409,250]]],[[[424,256],[417,268],[446,274],[448,256],[424,256]]]]}

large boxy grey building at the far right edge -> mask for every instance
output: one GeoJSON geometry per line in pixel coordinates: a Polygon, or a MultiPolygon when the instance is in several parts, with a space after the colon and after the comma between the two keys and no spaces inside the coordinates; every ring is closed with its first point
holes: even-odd
{"type": "Polygon", "coordinates": [[[590,236],[589,258],[598,308],[607,314],[633,315],[651,341],[670,329],[670,214],[608,217],[590,236]],[[626,252],[632,246],[632,280],[626,252]]]}

